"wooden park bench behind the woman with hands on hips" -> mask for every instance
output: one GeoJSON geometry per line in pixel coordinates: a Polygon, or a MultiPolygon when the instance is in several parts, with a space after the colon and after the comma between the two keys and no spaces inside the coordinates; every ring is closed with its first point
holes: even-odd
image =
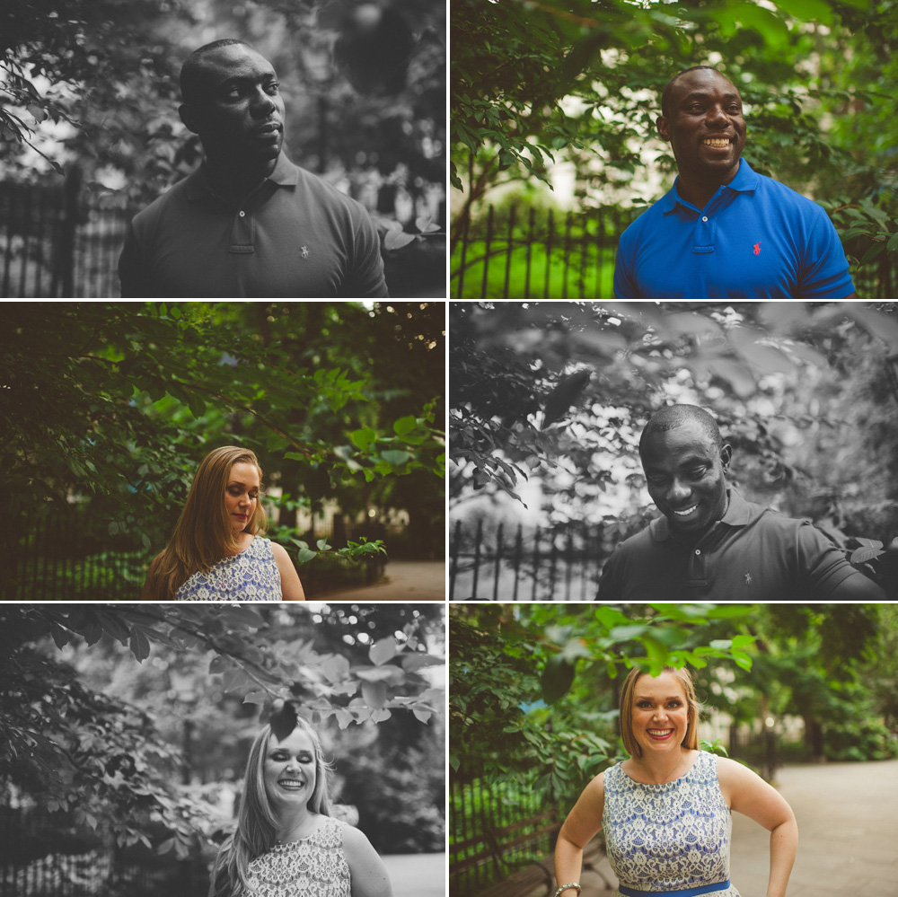
{"type": "MultiPolygon", "coordinates": [[[[462,862],[453,864],[451,872],[461,874],[489,863],[502,876],[502,880],[481,891],[478,897],[523,897],[536,888],[541,888],[541,893],[550,897],[554,891],[552,852],[560,828],[559,810],[550,808],[500,828],[486,829],[481,836],[453,844],[455,853],[476,845],[482,845],[482,848],[462,862]],[[547,838],[550,843],[548,853],[541,846],[547,838]],[[530,855],[510,859],[506,856],[519,848],[530,849],[530,855]]],[[[595,856],[595,851],[592,852],[592,857],[585,856],[583,867],[584,870],[592,869],[601,875],[605,884],[612,889],[613,885],[605,878],[602,870],[597,868],[603,852],[603,849],[599,849],[598,857],[595,856]]]]}

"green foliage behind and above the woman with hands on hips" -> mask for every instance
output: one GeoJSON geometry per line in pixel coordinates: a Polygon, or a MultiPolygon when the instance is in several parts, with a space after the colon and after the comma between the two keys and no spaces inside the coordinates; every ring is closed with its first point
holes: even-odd
{"type": "Polygon", "coordinates": [[[572,802],[622,756],[620,673],[664,665],[688,665],[700,701],[736,723],[803,717],[805,757],[885,757],[894,625],[880,638],[880,621],[879,605],[454,604],[450,766],[572,802]]]}

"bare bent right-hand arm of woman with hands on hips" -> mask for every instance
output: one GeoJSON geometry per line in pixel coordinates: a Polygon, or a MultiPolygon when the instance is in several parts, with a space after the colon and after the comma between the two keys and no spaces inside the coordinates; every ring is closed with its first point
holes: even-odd
{"type": "Polygon", "coordinates": [[[718,757],[720,790],[731,810],[770,831],[767,897],[786,897],[788,876],[798,850],[798,824],[786,798],[741,763],[718,757]]]}

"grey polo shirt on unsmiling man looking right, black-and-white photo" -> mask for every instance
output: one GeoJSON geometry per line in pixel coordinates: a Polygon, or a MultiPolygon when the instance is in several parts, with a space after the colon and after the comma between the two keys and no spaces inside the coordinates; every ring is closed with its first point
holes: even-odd
{"type": "Polygon", "coordinates": [[[360,299],[386,296],[365,207],[280,154],[231,206],[202,167],[135,215],[119,258],[121,295],[360,299]]]}

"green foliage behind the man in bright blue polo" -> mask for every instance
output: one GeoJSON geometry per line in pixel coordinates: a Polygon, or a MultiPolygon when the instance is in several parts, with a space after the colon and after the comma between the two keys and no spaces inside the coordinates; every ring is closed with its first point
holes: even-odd
{"type": "Polygon", "coordinates": [[[654,183],[656,150],[674,169],[658,97],[677,71],[711,63],[748,104],[753,166],[823,202],[853,263],[894,265],[894,19],[891,0],[455,4],[453,238],[490,190],[550,187],[561,163],[585,207],[657,198],[638,185],[654,183]]]}

